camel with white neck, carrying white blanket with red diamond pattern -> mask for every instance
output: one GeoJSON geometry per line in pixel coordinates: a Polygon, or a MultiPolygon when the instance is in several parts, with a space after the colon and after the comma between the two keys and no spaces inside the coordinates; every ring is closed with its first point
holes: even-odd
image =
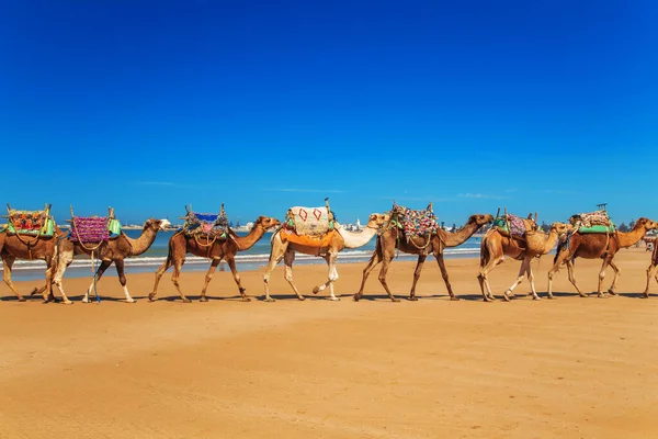
{"type": "Polygon", "coordinates": [[[284,278],[293,288],[293,291],[300,301],[305,300],[295,284],[293,283],[293,262],[295,261],[295,252],[304,255],[321,256],[329,268],[327,282],[321,285],[315,286],[313,293],[317,294],[329,286],[330,299],[332,301],[340,301],[333,292],[333,283],[338,280],[338,271],[336,270],[336,262],[338,254],[345,248],[359,248],[365,246],[371,239],[377,234],[379,228],[388,221],[388,215],[373,213],[367,218],[367,225],[364,230],[352,233],[348,232],[336,224],[338,233],[331,235],[328,243],[321,243],[321,247],[314,247],[308,245],[302,245],[286,240],[282,237],[281,230],[277,230],[272,236],[270,261],[265,268],[265,274],[263,275],[263,282],[265,284],[265,301],[274,302],[274,299],[270,296],[270,275],[282,259],[284,259],[284,278]]]}

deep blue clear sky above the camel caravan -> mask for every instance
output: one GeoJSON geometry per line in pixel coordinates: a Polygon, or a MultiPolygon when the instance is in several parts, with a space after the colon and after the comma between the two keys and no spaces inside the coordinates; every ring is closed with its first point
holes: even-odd
{"type": "Polygon", "coordinates": [[[653,1],[12,1],[2,201],[658,218],[653,1]]]}

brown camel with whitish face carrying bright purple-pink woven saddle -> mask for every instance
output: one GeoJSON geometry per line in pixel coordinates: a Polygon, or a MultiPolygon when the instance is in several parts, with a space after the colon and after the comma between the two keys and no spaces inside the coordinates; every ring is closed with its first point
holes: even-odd
{"type": "MultiPolygon", "coordinates": [[[[112,216],[112,211],[110,215],[112,216]]],[[[135,303],[136,301],[128,292],[126,275],[124,273],[124,260],[125,258],[139,256],[148,250],[156,240],[158,232],[163,230],[168,224],[170,224],[168,219],[147,219],[146,223],[144,223],[141,235],[139,235],[139,237],[136,239],[129,238],[123,232],[116,239],[110,239],[107,241],[100,243],[82,244],[79,241],[71,241],[68,235],[60,237],[57,249],[57,271],[53,282],[59,290],[64,303],[67,305],[72,303],[64,292],[61,279],[64,278],[64,273],[66,272],[68,266],[73,261],[73,255],[89,255],[92,258],[95,256],[101,261],[101,264],[99,266],[91,284],[84,293],[84,297],[82,297],[83,303],[89,303],[89,294],[92,290],[94,290],[94,288],[101,281],[101,277],[105,270],[107,270],[113,262],[114,267],[116,267],[118,282],[123,286],[126,302],[135,303]]]]}

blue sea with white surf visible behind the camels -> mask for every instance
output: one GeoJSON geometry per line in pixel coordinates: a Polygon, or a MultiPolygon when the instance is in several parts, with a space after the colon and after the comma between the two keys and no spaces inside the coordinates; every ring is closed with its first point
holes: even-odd
{"type": "MultiPolygon", "coordinates": [[[[137,238],[141,230],[124,230],[131,238],[137,238]]],[[[168,252],[169,238],[174,232],[160,232],[156,238],[156,241],[144,255],[135,258],[126,259],[125,271],[126,275],[131,273],[155,273],[156,270],[164,262],[168,252]]],[[[241,233],[240,235],[246,235],[241,233]]],[[[265,234],[261,240],[256,243],[249,250],[240,251],[236,256],[236,262],[238,271],[252,271],[252,270],[264,270],[270,258],[270,238],[271,234],[265,234]]],[[[338,257],[338,262],[366,262],[372,256],[375,249],[376,238],[373,238],[367,245],[359,249],[344,250],[338,257]]],[[[466,243],[460,247],[449,248],[445,250],[445,258],[473,258],[479,255],[480,238],[469,238],[466,243]]],[[[399,260],[416,260],[417,257],[413,255],[406,255],[399,252],[396,259],[399,260]]],[[[431,262],[434,258],[429,257],[428,262],[431,262]]],[[[295,257],[295,264],[307,264],[307,263],[326,263],[322,258],[300,255],[297,254],[295,257]]],[[[281,262],[280,264],[283,264],[281,262]]],[[[1,266],[1,263],[0,263],[1,266]]],[[[16,260],[12,271],[12,280],[14,281],[26,281],[34,279],[44,279],[45,277],[45,262],[44,261],[27,261],[16,260]]],[[[98,261],[95,262],[98,267],[98,261]]],[[[209,267],[209,260],[195,256],[188,256],[185,264],[182,271],[207,271],[209,267]]],[[[90,278],[93,273],[92,261],[88,256],[79,255],[76,256],[73,262],[69,266],[66,271],[65,278],[90,278]]],[[[171,272],[173,269],[169,269],[171,272]]],[[[277,269],[279,270],[279,269],[277,269]]],[[[275,270],[275,272],[277,271],[275,270]]],[[[228,264],[222,262],[217,267],[217,271],[229,271],[228,264]]],[[[103,277],[116,277],[116,270],[114,267],[110,267],[103,277]]]]}

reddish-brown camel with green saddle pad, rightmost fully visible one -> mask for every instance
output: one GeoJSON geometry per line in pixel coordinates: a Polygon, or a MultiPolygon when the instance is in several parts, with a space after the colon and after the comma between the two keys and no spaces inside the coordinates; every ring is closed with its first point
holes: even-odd
{"type": "Polygon", "coordinates": [[[553,277],[559,270],[559,268],[566,263],[569,281],[578,291],[581,297],[588,297],[576,284],[576,277],[574,273],[574,259],[603,259],[601,264],[601,271],[599,272],[599,286],[597,293],[599,297],[604,297],[605,294],[602,292],[603,278],[605,278],[605,269],[608,266],[614,270],[614,278],[612,278],[612,284],[608,292],[611,295],[615,295],[614,292],[616,280],[620,277],[621,270],[615,266],[613,258],[614,255],[621,249],[631,247],[639,241],[648,230],[658,228],[658,223],[648,218],[639,218],[635,223],[633,230],[628,233],[616,232],[614,234],[580,234],[575,233],[567,235],[566,238],[559,240],[557,245],[557,252],[555,255],[553,268],[548,270],[548,299],[553,297],[553,277]]]}

